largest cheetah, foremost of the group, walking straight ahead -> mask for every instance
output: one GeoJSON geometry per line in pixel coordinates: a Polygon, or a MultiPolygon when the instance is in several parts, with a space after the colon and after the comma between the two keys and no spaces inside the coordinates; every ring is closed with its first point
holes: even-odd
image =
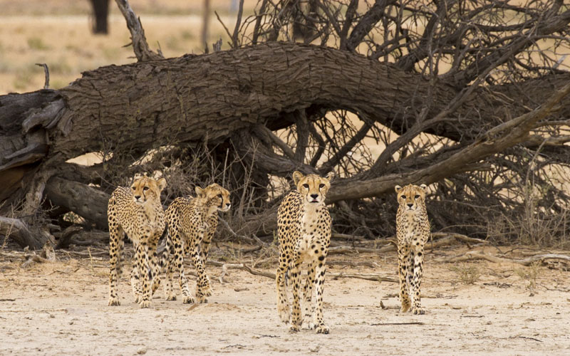
{"type": "Polygon", "coordinates": [[[296,191],[289,192],[281,201],[277,212],[279,234],[279,266],[276,273],[277,311],[281,321],[289,323],[291,332],[315,329],[316,333],[328,334],[323,322],[323,285],[325,260],[331,243],[331,215],[325,205],[333,173],[326,177],[316,174],[304,176],[293,173],[296,191]],[[301,263],[308,262],[304,285],[304,316],[301,323],[299,289],[301,287],[301,263]],[[293,285],[293,310],[289,311],[289,300],[285,286],[289,270],[293,285]],[[316,289],[316,303],[312,308],[313,288],[316,289]],[[311,319],[311,314],[313,318],[311,319]]]}

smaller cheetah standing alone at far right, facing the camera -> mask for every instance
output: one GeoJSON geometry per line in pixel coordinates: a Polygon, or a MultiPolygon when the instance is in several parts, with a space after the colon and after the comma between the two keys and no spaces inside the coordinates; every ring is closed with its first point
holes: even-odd
{"type": "Polygon", "coordinates": [[[396,216],[396,235],[398,237],[401,313],[410,310],[410,306],[410,311],[414,314],[425,313],[420,304],[423,246],[430,236],[430,221],[427,219],[425,208],[425,189],[427,189],[425,184],[419,187],[413,184],[405,187],[395,186],[399,204],[396,216]]]}

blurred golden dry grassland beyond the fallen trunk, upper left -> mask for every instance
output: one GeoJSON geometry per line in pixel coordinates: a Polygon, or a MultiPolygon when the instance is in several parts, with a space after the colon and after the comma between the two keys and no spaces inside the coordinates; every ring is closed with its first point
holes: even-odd
{"type": "MultiPolygon", "coordinates": [[[[166,57],[185,53],[203,53],[199,43],[202,28],[202,1],[139,0],[131,1],[141,16],[147,40],[159,46],[166,57]]],[[[220,14],[229,28],[236,15],[229,0],[211,0],[209,43],[222,37],[228,48],[227,35],[213,11],[220,14]]],[[[253,14],[255,0],[244,1],[244,14],[253,14]]],[[[43,68],[50,68],[50,88],[63,88],[81,72],[110,64],[133,63],[133,49],[125,20],[113,1],[110,3],[110,33],[93,35],[90,31],[88,1],[0,0],[0,95],[24,93],[43,88],[43,68]]]]}

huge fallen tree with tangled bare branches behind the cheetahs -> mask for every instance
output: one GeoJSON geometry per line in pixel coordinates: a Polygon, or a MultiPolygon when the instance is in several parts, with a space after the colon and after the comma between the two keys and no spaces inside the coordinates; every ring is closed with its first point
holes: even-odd
{"type": "Polygon", "coordinates": [[[231,50],[170,59],[125,17],[137,63],[0,97],[0,227],[23,246],[105,229],[109,192],[142,171],[169,179],[166,203],[222,182],[233,234],[272,236],[295,169],[336,172],[337,232],[390,236],[394,185],[421,182],[435,231],[564,243],[563,1],[261,0],[231,50]],[[103,162],[66,162],[88,152],[103,162]]]}

